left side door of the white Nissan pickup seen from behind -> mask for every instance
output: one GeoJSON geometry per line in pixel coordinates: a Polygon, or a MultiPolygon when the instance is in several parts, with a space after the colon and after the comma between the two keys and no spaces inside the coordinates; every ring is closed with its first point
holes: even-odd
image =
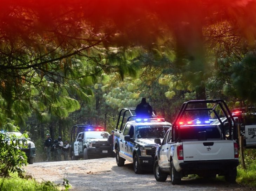
{"type": "Polygon", "coordinates": [[[167,158],[167,152],[169,151],[169,144],[167,142],[167,138],[169,135],[170,131],[168,131],[166,133],[166,135],[163,138],[163,142],[162,142],[162,146],[161,146],[161,150],[160,150],[160,155],[159,155],[159,166],[161,167],[161,169],[163,170],[167,170],[169,168],[168,166],[168,158],[167,158]]]}

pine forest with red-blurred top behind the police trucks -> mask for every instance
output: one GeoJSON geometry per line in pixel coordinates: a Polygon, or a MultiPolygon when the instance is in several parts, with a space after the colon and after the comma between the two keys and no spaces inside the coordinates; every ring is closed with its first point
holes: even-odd
{"type": "Polygon", "coordinates": [[[188,100],[256,103],[256,1],[2,1],[0,129],[43,142],[111,131],[142,97],[172,122],[188,100]]]}

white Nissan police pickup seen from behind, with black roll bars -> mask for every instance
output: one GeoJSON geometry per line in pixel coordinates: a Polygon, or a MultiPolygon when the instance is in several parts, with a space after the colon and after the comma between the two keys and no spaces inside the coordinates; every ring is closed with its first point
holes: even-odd
{"type": "MultiPolygon", "coordinates": [[[[215,110],[217,106],[225,116],[232,116],[223,100],[183,103],[163,141],[155,139],[159,144],[154,160],[157,181],[166,181],[168,174],[172,184],[180,184],[181,178],[189,174],[203,177],[216,177],[218,174],[224,175],[228,182],[235,182],[236,167],[239,164],[238,144],[231,137],[225,136],[224,124],[215,110]],[[220,120],[220,125],[210,125],[210,112],[220,120]]],[[[236,129],[232,126],[234,122],[234,118],[230,117],[230,133],[231,129],[236,129]]]]}

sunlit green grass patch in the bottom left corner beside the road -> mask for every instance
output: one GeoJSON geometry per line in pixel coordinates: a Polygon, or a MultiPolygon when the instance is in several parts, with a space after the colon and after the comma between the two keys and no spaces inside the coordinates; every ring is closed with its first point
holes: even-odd
{"type": "MultiPolygon", "coordinates": [[[[65,188],[64,188],[65,189],[65,188]]],[[[11,174],[8,178],[0,178],[1,191],[59,191],[58,185],[47,182],[36,182],[31,177],[22,179],[17,173],[11,174]]]]}

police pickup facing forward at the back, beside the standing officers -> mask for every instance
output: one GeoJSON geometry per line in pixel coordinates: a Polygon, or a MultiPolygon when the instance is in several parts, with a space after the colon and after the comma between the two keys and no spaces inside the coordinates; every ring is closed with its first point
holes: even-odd
{"type": "MultiPolygon", "coordinates": [[[[112,147],[108,144],[109,133],[99,125],[75,125],[76,139],[71,143],[71,159],[112,156],[112,147]]],[[[75,135],[75,133],[73,133],[75,135]]],[[[73,137],[74,138],[74,137],[73,137]]]]}

